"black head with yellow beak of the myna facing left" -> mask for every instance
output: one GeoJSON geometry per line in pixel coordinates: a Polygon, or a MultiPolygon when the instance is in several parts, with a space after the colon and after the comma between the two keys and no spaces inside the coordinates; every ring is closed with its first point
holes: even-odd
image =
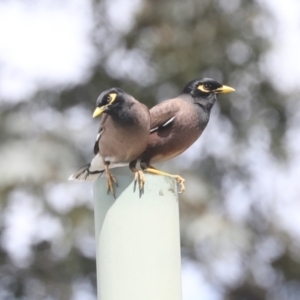
{"type": "Polygon", "coordinates": [[[96,101],[97,108],[94,111],[93,118],[100,116],[111,109],[117,109],[125,101],[125,92],[120,88],[113,87],[100,94],[96,101]]]}

